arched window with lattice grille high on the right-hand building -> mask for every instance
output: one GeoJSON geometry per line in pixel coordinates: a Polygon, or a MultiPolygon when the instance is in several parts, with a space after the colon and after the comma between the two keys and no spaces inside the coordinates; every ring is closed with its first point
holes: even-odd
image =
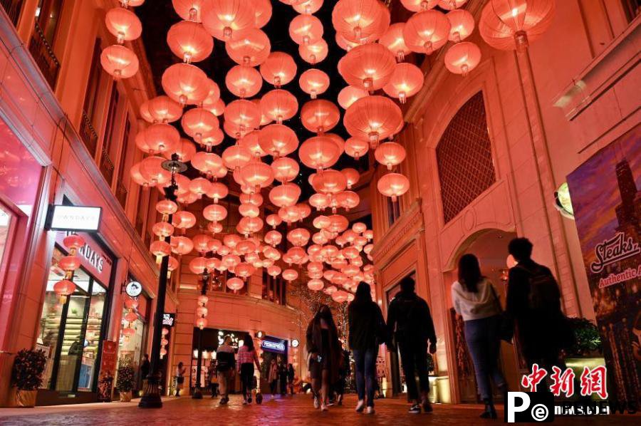
{"type": "Polygon", "coordinates": [[[454,115],[436,155],[447,223],[496,182],[482,92],[454,115]]]}

